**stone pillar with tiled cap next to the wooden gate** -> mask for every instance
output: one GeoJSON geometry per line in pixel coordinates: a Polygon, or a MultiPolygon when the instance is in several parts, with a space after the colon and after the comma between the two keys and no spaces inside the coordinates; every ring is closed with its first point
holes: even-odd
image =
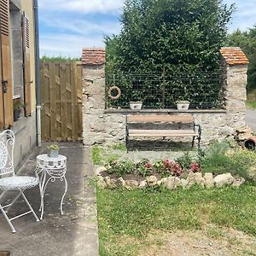
{"type": "Polygon", "coordinates": [[[83,49],[83,143],[104,143],[105,49],[83,49]]]}

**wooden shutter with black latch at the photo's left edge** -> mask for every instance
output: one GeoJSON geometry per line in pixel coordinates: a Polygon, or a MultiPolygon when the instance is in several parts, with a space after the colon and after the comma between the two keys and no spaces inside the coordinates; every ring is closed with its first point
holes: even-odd
{"type": "Polygon", "coordinates": [[[0,0],[0,49],[1,49],[1,91],[0,104],[2,109],[2,128],[8,128],[14,123],[12,69],[9,35],[9,0],[0,0]],[[4,90],[6,85],[6,90],[4,90]]]}

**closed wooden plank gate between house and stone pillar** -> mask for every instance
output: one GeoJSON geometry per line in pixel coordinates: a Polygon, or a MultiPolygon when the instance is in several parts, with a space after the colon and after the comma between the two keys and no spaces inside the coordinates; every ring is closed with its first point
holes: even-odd
{"type": "Polygon", "coordinates": [[[81,63],[42,61],[40,74],[42,140],[81,140],[81,63]]]}

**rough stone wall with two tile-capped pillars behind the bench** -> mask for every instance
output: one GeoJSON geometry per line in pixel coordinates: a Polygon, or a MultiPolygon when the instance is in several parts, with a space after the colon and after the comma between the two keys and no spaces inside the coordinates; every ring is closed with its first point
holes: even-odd
{"type": "MultiPolygon", "coordinates": [[[[228,57],[234,59],[233,48],[228,57]]],[[[102,49],[100,49],[102,54],[102,49]]],[[[241,49],[240,49],[241,50],[241,49]]],[[[240,54],[240,52],[239,52],[240,54]]],[[[127,114],[184,114],[191,113],[195,123],[201,124],[201,143],[212,139],[223,139],[245,127],[247,62],[241,60],[229,63],[223,60],[224,67],[224,109],[216,110],[177,110],[177,109],[105,109],[105,66],[97,49],[84,49],[83,56],[83,122],[84,144],[112,144],[125,142],[125,116],[127,114]],[[91,55],[91,58],[88,56],[91,55]],[[100,59],[100,61],[99,61],[100,59]],[[96,64],[95,64],[96,63],[96,64]]],[[[237,55],[235,53],[235,58],[237,55]]]]}

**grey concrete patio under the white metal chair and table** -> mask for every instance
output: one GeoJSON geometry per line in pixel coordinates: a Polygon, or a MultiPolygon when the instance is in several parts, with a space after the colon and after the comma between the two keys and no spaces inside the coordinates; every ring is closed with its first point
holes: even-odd
{"type": "MultiPolygon", "coordinates": [[[[48,143],[49,144],[49,143],[48,143]]],[[[98,255],[98,232],[96,221],[95,189],[90,186],[93,166],[90,148],[79,143],[59,143],[60,154],[67,156],[67,195],[60,212],[64,183],[49,183],[44,199],[44,219],[36,222],[32,214],[15,219],[17,230],[12,234],[3,214],[0,214],[0,251],[9,251],[13,256],[49,255],[98,255]]],[[[20,169],[20,175],[33,175],[36,156],[46,152],[47,143],[37,148],[20,169]]],[[[14,196],[14,193],[9,193],[14,196]]],[[[39,189],[26,191],[28,200],[39,216],[39,189]]],[[[22,201],[11,208],[9,214],[25,212],[22,201]]]]}

